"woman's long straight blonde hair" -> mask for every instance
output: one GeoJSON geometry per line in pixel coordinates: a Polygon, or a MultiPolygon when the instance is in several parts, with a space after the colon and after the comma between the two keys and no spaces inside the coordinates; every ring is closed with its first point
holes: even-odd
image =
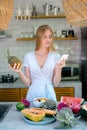
{"type": "Polygon", "coordinates": [[[52,42],[51,45],[49,47],[50,51],[55,51],[54,45],[53,45],[53,31],[51,29],[50,26],[48,25],[41,25],[38,27],[37,31],[36,31],[36,48],[35,50],[38,50],[41,44],[41,38],[44,35],[44,33],[46,32],[46,30],[50,30],[51,31],[51,35],[52,35],[52,42]]]}

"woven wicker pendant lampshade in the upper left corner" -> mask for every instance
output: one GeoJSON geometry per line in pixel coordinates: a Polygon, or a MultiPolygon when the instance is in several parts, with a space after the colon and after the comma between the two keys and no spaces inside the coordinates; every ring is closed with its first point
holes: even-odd
{"type": "Polygon", "coordinates": [[[0,30],[6,30],[13,14],[13,0],[0,0],[0,30]]]}

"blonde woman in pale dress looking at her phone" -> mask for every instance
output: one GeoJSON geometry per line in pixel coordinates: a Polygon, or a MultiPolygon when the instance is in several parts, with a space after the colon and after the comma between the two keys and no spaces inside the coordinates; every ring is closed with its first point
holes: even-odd
{"type": "MultiPolygon", "coordinates": [[[[36,32],[36,48],[28,52],[24,57],[24,70],[21,67],[13,68],[17,72],[22,82],[29,86],[26,99],[46,97],[56,100],[54,92],[61,80],[61,70],[65,65],[65,60],[60,60],[60,55],[53,47],[53,31],[48,25],[42,25],[36,32]]],[[[11,66],[10,66],[11,67],[11,66]]]]}

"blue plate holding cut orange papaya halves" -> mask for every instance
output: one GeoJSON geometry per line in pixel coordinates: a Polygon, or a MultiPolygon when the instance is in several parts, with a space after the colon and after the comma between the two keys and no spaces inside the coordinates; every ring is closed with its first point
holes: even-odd
{"type": "Polygon", "coordinates": [[[24,120],[32,125],[45,125],[56,121],[53,116],[56,114],[54,110],[48,110],[43,108],[27,108],[22,111],[24,120]]]}

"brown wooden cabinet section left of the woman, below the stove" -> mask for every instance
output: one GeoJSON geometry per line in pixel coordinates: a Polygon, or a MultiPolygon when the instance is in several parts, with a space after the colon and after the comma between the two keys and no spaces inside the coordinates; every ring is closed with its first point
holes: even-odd
{"type": "Polygon", "coordinates": [[[0,88],[0,102],[18,102],[26,97],[27,88],[0,88]]]}

